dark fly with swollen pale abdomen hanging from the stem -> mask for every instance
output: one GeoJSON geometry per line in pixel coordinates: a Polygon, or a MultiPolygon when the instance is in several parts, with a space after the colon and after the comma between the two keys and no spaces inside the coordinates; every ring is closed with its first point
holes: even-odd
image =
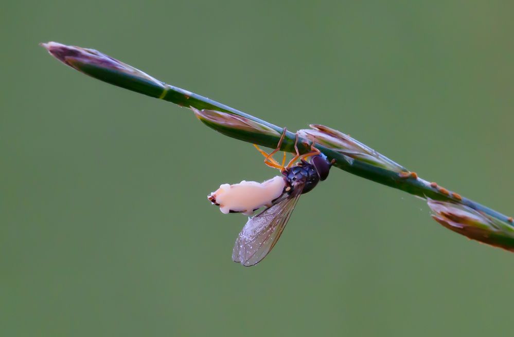
{"type": "Polygon", "coordinates": [[[250,215],[265,206],[263,211],[248,219],[234,245],[232,259],[246,267],[258,264],[268,255],[286,227],[300,195],[311,191],[320,180],[325,180],[333,164],[314,144],[311,152],[300,155],[297,147],[298,135],[294,144],[296,155],[285,165],[284,153],[282,163],[279,164],[273,159],[273,155],[279,151],[285,135],[286,129],[277,148],[269,154],[254,144],[265,157],[264,163],[278,168],[281,176],[263,183],[241,181],[233,185],[223,184],[208,196],[212,203],[220,206],[223,213],[242,212],[250,215]]]}

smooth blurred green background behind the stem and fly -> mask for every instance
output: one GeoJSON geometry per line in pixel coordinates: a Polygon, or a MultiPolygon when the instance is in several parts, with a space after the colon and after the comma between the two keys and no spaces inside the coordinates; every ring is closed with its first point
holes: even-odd
{"type": "Polygon", "coordinates": [[[333,170],[264,261],[206,196],[277,174],[91,47],[290,130],[321,123],[512,215],[514,3],[52,1],[0,12],[0,335],[508,335],[514,255],[333,170]]]}

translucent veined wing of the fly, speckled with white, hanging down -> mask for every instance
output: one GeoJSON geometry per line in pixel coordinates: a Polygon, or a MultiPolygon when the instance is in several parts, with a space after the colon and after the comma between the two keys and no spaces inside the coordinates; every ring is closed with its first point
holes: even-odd
{"type": "Polygon", "coordinates": [[[250,267],[258,264],[268,255],[286,227],[302,190],[303,186],[297,188],[297,192],[293,192],[294,194],[288,198],[248,219],[232,251],[234,262],[250,267]]]}

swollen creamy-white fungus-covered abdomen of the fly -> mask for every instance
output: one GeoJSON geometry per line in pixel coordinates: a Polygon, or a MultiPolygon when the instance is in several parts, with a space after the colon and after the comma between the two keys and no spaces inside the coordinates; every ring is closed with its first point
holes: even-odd
{"type": "Polygon", "coordinates": [[[262,183],[256,181],[241,181],[238,184],[222,184],[208,198],[220,206],[220,211],[227,214],[230,211],[251,215],[254,210],[270,206],[272,201],[282,195],[286,181],[276,176],[262,183]]]}

